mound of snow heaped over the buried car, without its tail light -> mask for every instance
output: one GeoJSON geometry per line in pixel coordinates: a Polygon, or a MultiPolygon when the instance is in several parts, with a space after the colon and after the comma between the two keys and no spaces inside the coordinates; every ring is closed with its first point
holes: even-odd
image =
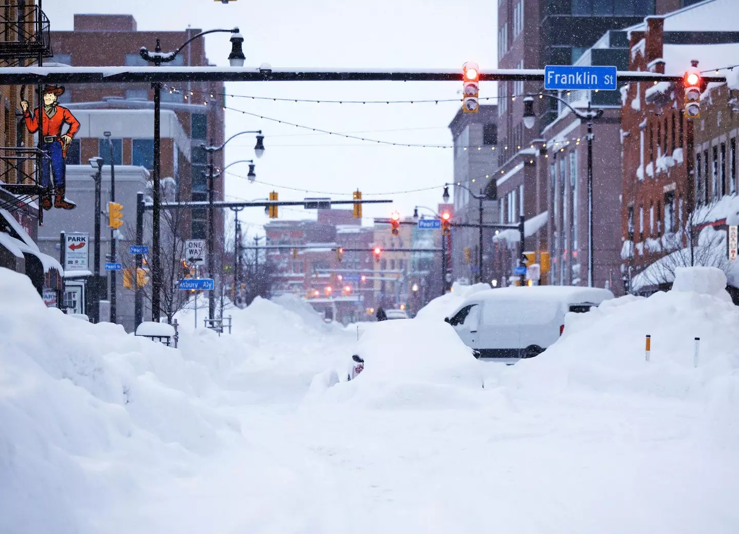
{"type": "MultiPolygon", "coordinates": [[[[480,362],[446,323],[424,319],[374,323],[353,353],[364,359],[364,370],[354,380],[330,387],[328,400],[425,409],[451,406],[459,389],[483,389],[480,362]]],[[[333,376],[322,373],[316,382],[329,387],[333,376]]],[[[313,389],[321,388],[314,383],[313,389]]]]}

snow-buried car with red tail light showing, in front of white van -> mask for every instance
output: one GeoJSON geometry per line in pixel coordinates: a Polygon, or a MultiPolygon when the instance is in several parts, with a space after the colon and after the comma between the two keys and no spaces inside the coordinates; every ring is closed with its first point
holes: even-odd
{"type": "Polygon", "coordinates": [[[361,373],[363,381],[482,386],[475,351],[442,325],[423,319],[368,324],[353,350],[347,380],[361,373]]]}

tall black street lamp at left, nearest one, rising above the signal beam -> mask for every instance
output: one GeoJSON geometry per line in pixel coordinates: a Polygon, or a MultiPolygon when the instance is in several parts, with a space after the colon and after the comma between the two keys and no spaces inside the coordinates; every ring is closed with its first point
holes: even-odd
{"type": "MultiPolygon", "coordinates": [[[[228,55],[228,62],[231,66],[243,66],[244,65],[244,52],[242,51],[242,43],[244,38],[239,33],[239,28],[233,28],[232,30],[208,30],[201,32],[193,37],[189,38],[183,46],[180,46],[174,52],[162,52],[157,38],[157,46],[154,52],[149,52],[146,46],[142,46],[139,50],[140,56],[148,61],[154,63],[154,66],[160,66],[162,63],[169,63],[177,57],[177,54],[191,41],[208,35],[208,33],[216,32],[228,32],[231,33],[231,54],[228,55]]],[[[152,236],[151,236],[151,319],[154,322],[159,322],[160,316],[160,294],[162,291],[162,271],[160,265],[160,174],[161,174],[161,159],[162,159],[162,144],[160,137],[160,117],[161,117],[161,101],[162,101],[162,84],[160,82],[154,82],[151,84],[154,89],[154,165],[151,169],[151,202],[153,204],[151,209],[151,215],[153,218],[152,223],[152,236]]]]}

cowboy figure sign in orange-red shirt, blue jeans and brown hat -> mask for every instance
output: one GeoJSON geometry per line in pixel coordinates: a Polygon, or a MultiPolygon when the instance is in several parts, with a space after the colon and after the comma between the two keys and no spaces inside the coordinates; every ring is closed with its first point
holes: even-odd
{"type": "MultiPolygon", "coordinates": [[[[46,153],[48,159],[44,159],[41,165],[41,187],[44,187],[44,193],[41,195],[41,207],[51,209],[51,187],[50,174],[54,177],[54,207],[62,209],[74,209],[77,204],[64,198],[64,188],[66,184],[66,165],[64,159],[67,157],[67,149],[72,142],[72,137],[80,129],[80,122],[75,119],[69,109],[58,105],[57,99],[64,94],[64,87],[45,86],[44,87],[44,118],[41,125],[44,131],[41,132],[41,150],[46,153]],[[61,128],[67,125],[67,131],[61,133],[61,128]]],[[[23,117],[26,119],[26,127],[31,133],[38,131],[38,113],[36,108],[33,116],[28,111],[27,100],[21,100],[21,108],[23,108],[23,117]]]]}

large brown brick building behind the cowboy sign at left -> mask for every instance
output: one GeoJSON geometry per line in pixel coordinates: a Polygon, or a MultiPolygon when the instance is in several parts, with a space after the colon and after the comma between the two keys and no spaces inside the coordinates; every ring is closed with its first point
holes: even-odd
{"type": "MultiPolygon", "coordinates": [[[[87,15],[74,16],[72,31],[51,32],[54,56],[52,60],[71,66],[147,66],[140,57],[139,49],[146,46],[153,50],[157,38],[163,50],[176,50],[189,38],[202,30],[188,28],[183,31],[140,32],[132,15],[87,15]]],[[[168,66],[207,66],[205,40],[195,39],[185,46],[174,61],[165,63],[168,66]]],[[[171,176],[177,183],[178,197],[181,201],[205,201],[208,199],[207,180],[205,178],[206,153],[200,145],[205,142],[220,145],[224,141],[224,111],[221,105],[223,84],[217,82],[188,82],[183,86],[165,87],[162,91],[163,111],[174,113],[180,123],[185,138],[189,142],[181,142],[171,136],[162,137],[161,177],[171,176]],[[214,97],[210,97],[214,94],[214,97]]],[[[109,109],[131,111],[130,116],[143,119],[148,111],[151,116],[154,103],[151,84],[95,84],[70,85],[63,95],[69,107],[79,110],[109,109]],[[139,115],[137,115],[139,114],[139,115]]],[[[154,152],[154,125],[151,119],[143,119],[142,124],[149,124],[149,133],[137,133],[137,137],[120,137],[113,139],[115,157],[123,164],[141,164],[151,170],[154,152]]],[[[109,123],[109,131],[116,128],[117,123],[109,123]]],[[[163,130],[166,125],[163,125],[163,130]]],[[[174,125],[173,125],[174,128],[174,125]]],[[[101,130],[105,129],[100,128],[101,130]]],[[[146,129],[146,128],[144,128],[146,129]]],[[[98,156],[106,157],[100,152],[99,136],[87,136],[81,139],[79,159],[86,163],[87,159],[98,156]]],[[[223,166],[223,152],[214,154],[216,167],[223,166]]],[[[223,176],[214,180],[214,198],[223,200],[223,176]]],[[[191,236],[205,238],[205,212],[193,210],[190,222],[191,236]]],[[[217,211],[216,228],[223,227],[224,214],[217,211]]],[[[218,235],[222,235],[218,232],[218,235]]],[[[219,243],[222,246],[222,243],[219,243]]]]}

